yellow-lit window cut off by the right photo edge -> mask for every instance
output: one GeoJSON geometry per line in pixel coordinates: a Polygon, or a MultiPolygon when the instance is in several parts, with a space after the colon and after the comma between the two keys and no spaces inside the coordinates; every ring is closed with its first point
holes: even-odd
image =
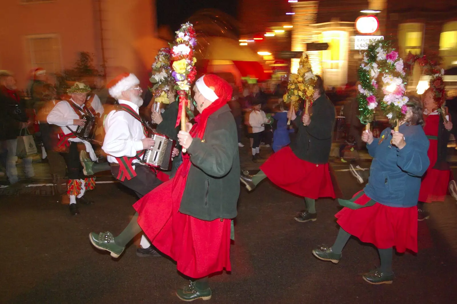
{"type": "Polygon", "coordinates": [[[444,68],[457,64],[457,21],[445,23],[440,35],[440,56],[444,68]]]}

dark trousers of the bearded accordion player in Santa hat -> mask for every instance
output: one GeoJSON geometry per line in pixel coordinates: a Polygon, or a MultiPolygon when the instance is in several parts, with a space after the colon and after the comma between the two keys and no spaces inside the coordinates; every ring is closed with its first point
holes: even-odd
{"type": "MultiPolygon", "coordinates": [[[[120,166],[116,163],[111,164],[111,173],[114,178],[117,178],[119,174],[120,166]]],[[[141,198],[151,192],[155,187],[159,186],[162,181],[160,181],[147,165],[135,164],[135,173],[137,176],[133,177],[131,180],[127,178],[121,183],[130,189],[132,189],[138,196],[141,198]]]]}

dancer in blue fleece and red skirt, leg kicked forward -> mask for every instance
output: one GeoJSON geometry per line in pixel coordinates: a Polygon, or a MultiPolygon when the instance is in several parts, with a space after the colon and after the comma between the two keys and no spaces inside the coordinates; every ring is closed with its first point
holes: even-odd
{"type": "Polygon", "coordinates": [[[345,208],[335,215],[340,224],[335,244],[313,250],[318,259],[336,264],[351,235],[372,243],[379,251],[381,266],[363,275],[371,284],[393,282],[393,246],[398,252],[417,252],[416,201],[420,177],[429,165],[429,143],[422,130],[419,98],[410,96],[407,106],[399,132],[386,128],[379,139],[371,131],[362,133],[373,157],[368,184],[350,201],[340,200],[345,208]]]}

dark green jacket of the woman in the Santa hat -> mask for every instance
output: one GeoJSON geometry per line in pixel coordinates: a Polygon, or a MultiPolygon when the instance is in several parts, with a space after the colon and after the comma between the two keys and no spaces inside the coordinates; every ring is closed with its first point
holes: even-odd
{"type": "Polygon", "coordinates": [[[239,197],[239,151],[235,119],[228,105],[208,117],[203,140],[187,152],[191,168],[180,212],[197,219],[233,219],[239,197]]]}

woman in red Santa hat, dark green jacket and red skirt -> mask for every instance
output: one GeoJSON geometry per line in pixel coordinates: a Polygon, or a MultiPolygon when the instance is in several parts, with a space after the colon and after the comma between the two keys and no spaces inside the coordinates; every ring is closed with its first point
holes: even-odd
{"type": "Polygon", "coordinates": [[[133,205],[139,215],[120,235],[89,235],[94,246],[118,257],[143,229],[153,245],[177,262],[178,271],[192,278],[176,291],[184,301],[211,299],[207,276],[224,268],[230,271],[232,219],[239,196],[237,127],[227,105],[232,88],[216,75],[205,75],[193,89],[201,114],[194,126],[188,123],[190,133],[178,134],[187,154],[175,177],[133,205]]]}

